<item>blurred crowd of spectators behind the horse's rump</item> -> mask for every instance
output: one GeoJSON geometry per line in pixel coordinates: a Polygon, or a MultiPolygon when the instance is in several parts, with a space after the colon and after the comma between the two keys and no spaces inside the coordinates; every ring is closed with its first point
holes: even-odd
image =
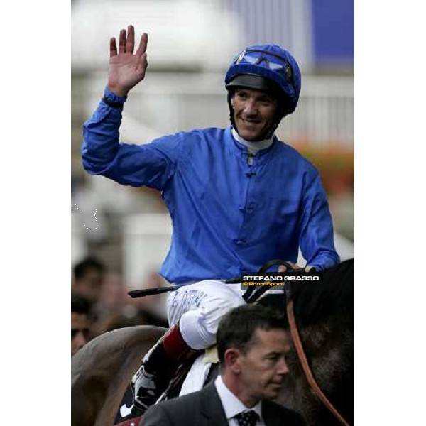
{"type": "MultiPolygon", "coordinates": [[[[155,271],[139,288],[163,286],[155,271]]],[[[132,299],[121,274],[109,271],[98,258],[87,257],[72,266],[71,355],[99,334],[134,325],[168,327],[164,297],[132,299]]]]}

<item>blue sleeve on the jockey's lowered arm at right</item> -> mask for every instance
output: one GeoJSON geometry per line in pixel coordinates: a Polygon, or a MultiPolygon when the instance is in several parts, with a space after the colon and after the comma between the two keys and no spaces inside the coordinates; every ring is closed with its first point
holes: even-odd
{"type": "Polygon", "coordinates": [[[307,265],[318,271],[339,263],[334,248],[333,223],[327,196],[317,170],[308,170],[300,222],[300,251],[307,265]]]}

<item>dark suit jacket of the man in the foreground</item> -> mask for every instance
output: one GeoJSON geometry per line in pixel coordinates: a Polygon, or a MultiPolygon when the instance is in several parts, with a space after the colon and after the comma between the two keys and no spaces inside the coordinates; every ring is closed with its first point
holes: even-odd
{"type": "MultiPolygon", "coordinates": [[[[263,400],[262,417],[266,426],[305,426],[294,410],[263,400]]],[[[228,426],[214,383],[201,391],[164,401],[146,410],[139,426],[228,426]]]]}

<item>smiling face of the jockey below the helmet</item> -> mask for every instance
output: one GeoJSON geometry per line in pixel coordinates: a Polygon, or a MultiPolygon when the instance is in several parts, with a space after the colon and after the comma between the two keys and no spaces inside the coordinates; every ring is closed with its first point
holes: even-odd
{"type": "Polygon", "coordinates": [[[237,88],[231,97],[234,108],[234,123],[241,138],[246,141],[261,141],[273,126],[277,111],[276,99],[256,89],[237,88]]]}

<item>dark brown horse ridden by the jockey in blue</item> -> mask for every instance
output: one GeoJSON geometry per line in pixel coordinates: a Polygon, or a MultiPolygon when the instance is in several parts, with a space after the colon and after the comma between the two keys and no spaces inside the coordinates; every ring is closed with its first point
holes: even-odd
{"type": "MultiPolygon", "coordinates": [[[[354,259],[323,271],[320,281],[291,282],[290,294],[312,373],[334,407],[353,425],[354,259]]],[[[271,294],[258,302],[284,309],[283,300],[283,295],[271,294]]],[[[117,329],[92,340],[72,357],[72,426],[114,425],[141,358],[165,331],[149,326],[117,329]]],[[[276,402],[302,413],[307,425],[341,425],[312,392],[294,349],[288,364],[290,372],[276,402]]]]}

